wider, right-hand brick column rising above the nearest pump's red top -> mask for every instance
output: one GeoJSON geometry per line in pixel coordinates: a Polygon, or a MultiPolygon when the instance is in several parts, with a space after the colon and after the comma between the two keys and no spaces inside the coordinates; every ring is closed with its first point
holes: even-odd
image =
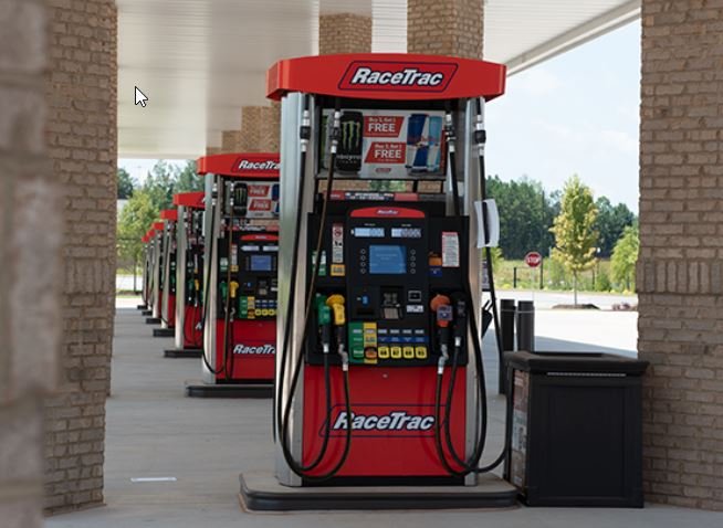
{"type": "Polygon", "coordinates": [[[482,59],[484,0],[407,0],[407,51],[482,59]]]}

